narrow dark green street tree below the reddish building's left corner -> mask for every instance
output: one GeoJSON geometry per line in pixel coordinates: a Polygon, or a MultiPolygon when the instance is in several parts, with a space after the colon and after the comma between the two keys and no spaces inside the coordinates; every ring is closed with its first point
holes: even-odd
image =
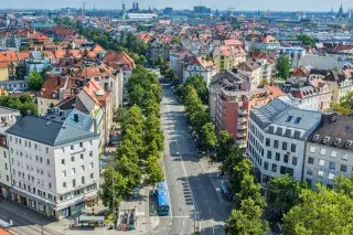
{"type": "Polygon", "coordinates": [[[217,147],[212,160],[215,162],[224,162],[225,159],[231,156],[234,143],[231,133],[222,130],[217,136],[217,147]]]}

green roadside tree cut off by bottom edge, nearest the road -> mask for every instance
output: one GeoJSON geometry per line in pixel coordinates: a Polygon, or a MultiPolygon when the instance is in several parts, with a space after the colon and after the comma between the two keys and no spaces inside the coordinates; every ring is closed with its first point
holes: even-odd
{"type": "Polygon", "coordinates": [[[266,235],[268,224],[261,220],[264,209],[252,199],[242,201],[240,207],[234,209],[226,221],[226,235],[266,235]]]}

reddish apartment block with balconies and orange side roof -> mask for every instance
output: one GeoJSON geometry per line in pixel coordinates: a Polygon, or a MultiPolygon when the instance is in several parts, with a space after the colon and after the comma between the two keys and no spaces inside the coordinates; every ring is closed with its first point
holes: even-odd
{"type": "Polygon", "coordinates": [[[237,74],[226,71],[215,77],[212,86],[210,115],[218,131],[227,130],[240,148],[246,148],[248,115],[253,107],[265,105],[274,97],[285,95],[278,87],[252,88],[237,74]]]}

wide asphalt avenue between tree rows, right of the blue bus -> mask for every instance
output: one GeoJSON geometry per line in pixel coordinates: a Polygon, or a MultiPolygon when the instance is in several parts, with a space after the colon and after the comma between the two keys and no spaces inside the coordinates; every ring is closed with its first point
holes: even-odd
{"type": "Polygon", "coordinates": [[[149,234],[190,235],[195,229],[202,235],[224,234],[224,221],[232,209],[220,202],[188,132],[184,108],[168,85],[163,85],[161,115],[171,213],[149,234]]]}

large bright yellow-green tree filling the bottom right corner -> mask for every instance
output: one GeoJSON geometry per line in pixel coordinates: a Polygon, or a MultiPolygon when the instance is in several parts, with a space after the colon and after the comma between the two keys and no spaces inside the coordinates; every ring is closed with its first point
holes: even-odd
{"type": "Polygon", "coordinates": [[[320,184],[317,188],[302,190],[300,203],[284,216],[285,234],[353,234],[352,199],[320,184]]]}

